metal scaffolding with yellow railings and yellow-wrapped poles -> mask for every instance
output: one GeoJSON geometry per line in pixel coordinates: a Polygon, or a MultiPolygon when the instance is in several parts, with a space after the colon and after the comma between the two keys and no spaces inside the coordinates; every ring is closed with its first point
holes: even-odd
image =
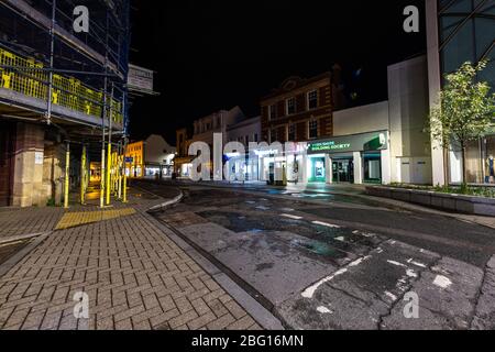
{"type": "Polygon", "coordinates": [[[98,148],[100,194],[107,196],[106,205],[110,204],[110,191],[122,188],[112,183],[112,175],[119,174],[122,177],[117,179],[125,182],[119,157],[111,156],[124,151],[127,144],[129,11],[129,0],[0,1],[0,106],[18,107],[22,101],[23,109],[38,114],[36,122],[56,125],[64,134],[65,207],[72,144],[80,145],[82,151],[80,202],[85,202],[89,179],[85,176],[88,158],[98,148]],[[89,10],[88,33],[74,32],[77,6],[89,10]],[[45,102],[45,108],[40,109],[40,101],[45,102]],[[81,116],[80,121],[65,111],[81,116]],[[95,129],[101,129],[100,139],[95,136],[95,129]]]}

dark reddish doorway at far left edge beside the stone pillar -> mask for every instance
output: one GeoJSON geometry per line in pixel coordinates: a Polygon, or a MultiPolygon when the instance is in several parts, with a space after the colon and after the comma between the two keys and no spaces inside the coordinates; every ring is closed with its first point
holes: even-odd
{"type": "Polygon", "coordinates": [[[0,123],[0,207],[10,206],[15,124],[0,123]]]}

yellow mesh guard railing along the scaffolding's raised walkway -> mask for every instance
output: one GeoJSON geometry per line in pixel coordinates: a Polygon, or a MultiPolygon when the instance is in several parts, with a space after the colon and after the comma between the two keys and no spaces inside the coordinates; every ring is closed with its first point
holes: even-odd
{"type": "MultiPolygon", "coordinates": [[[[32,98],[46,100],[48,95],[48,74],[35,68],[43,68],[43,64],[35,62],[33,58],[18,56],[0,47],[0,87],[32,98]],[[2,66],[15,68],[4,68],[2,66]]],[[[53,105],[88,116],[101,116],[103,94],[89,88],[80,80],[54,74],[52,90],[53,105]]],[[[122,103],[112,99],[110,108],[113,122],[122,123],[122,103]]]]}

